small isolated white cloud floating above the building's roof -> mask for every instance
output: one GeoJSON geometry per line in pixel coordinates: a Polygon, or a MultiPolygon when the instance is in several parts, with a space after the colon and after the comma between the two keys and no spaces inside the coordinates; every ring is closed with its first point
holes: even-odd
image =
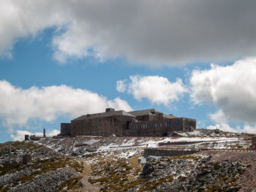
{"type": "Polygon", "coordinates": [[[173,101],[178,101],[187,92],[181,79],[177,79],[176,82],[169,82],[166,77],[140,77],[138,75],[130,76],[129,79],[130,82],[127,83],[125,83],[126,81],[118,81],[117,91],[123,91],[120,88],[121,84],[122,88],[127,87],[128,93],[131,93],[139,101],[148,99],[154,104],[168,106],[173,101]]]}

